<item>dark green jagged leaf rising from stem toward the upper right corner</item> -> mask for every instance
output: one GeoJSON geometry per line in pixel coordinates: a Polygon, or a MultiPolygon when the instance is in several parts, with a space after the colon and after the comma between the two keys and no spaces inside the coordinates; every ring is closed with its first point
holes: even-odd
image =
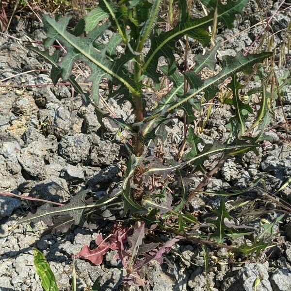
{"type": "MultiPolygon", "coordinates": [[[[207,0],[205,4],[210,8],[211,12],[215,3],[215,8],[217,7],[217,21],[226,24],[227,27],[231,27],[236,14],[242,13],[242,8],[247,1],[229,0],[224,5],[217,0],[207,0]]],[[[180,14],[176,27],[168,32],[162,32],[160,35],[151,37],[151,48],[146,55],[145,64],[142,68],[144,74],[152,78],[156,83],[159,83],[160,77],[160,74],[157,72],[159,58],[162,56],[165,57],[168,65],[175,63],[173,47],[175,47],[176,41],[182,36],[188,35],[198,40],[203,46],[207,46],[210,43],[211,36],[207,30],[213,23],[214,13],[210,13],[208,16],[202,18],[191,19],[187,9],[182,6],[185,1],[181,0],[179,2],[182,13],[180,14]]],[[[172,66],[171,68],[173,69],[172,66]]],[[[170,70],[171,73],[173,72],[170,70]]]]}

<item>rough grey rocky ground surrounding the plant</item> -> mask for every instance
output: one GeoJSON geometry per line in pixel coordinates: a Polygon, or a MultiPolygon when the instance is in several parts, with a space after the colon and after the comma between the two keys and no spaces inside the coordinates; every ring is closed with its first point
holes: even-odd
{"type": "MultiPolygon", "coordinates": [[[[272,15],[280,1],[265,0],[265,9],[272,15]]],[[[288,5],[288,4],[287,4],[288,5]]],[[[287,7],[285,5],[284,7],[287,7]]],[[[217,40],[225,41],[221,55],[234,55],[252,43],[262,31],[257,26],[251,32],[247,29],[260,18],[254,1],[250,1],[245,14],[236,21],[235,28],[220,32],[217,40]],[[240,36],[238,32],[246,30],[240,36]]],[[[279,45],[291,21],[291,10],[277,14],[272,19],[272,27],[278,32],[275,42],[279,45]]],[[[120,144],[125,139],[124,132],[112,128],[109,122],[100,125],[92,106],[85,107],[81,97],[74,96],[69,86],[47,86],[51,83],[48,65],[24,48],[25,41],[41,41],[45,32],[36,20],[15,17],[10,35],[0,37],[0,191],[30,195],[54,202],[66,202],[72,194],[82,189],[91,189],[102,195],[113,188],[121,179],[120,144]],[[40,69],[28,74],[13,74],[40,69]],[[12,85],[29,85],[13,87],[12,85]],[[42,85],[43,86],[34,86],[42,85]],[[120,143],[121,142],[121,143],[120,143]]],[[[110,32],[108,32],[110,34],[110,32]]],[[[193,58],[195,49],[192,51],[193,58]]],[[[290,68],[285,64],[282,70],[290,68]]],[[[282,73],[282,72],[281,72],[282,73]]],[[[106,95],[101,89],[100,93],[106,95]]],[[[113,112],[125,120],[132,119],[129,104],[117,105],[107,100],[113,112]]],[[[287,87],[284,111],[291,118],[291,87],[287,87]]],[[[221,108],[208,121],[205,139],[209,142],[221,138],[229,113],[221,108]]],[[[273,124],[284,122],[282,108],[275,108],[273,124]]],[[[166,154],[175,153],[175,145],[181,140],[182,126],[177,123],[167,128],[168,138],[164,144],[166,154]]],[[[212,178],[208,190],[244,189],[250,181],[263,177],[266,190],[274,193],[280,185],[291,177],[291,146],[286,134],[280,128],[269,131],[274,137],[272,144],[263,145],[259,156],[247,154],[241,158],[228,160],[220,175],[212,178]]],[[[250,193],[251,194],[251,193],[250,193]]],[[[245,194],[246,197],[247,195],[245,194]]],[[[291,203],[291,188],[282,193],[291,203]]],[[[219,198],[200,195],[193,202],[194,210],[206,205],[216,207],[219,198]]],[[[39,222],[16,225],[25,215],[23,209],[34,207],[36,202],[20,201],[17,198],[0,196],[0,291],[41,291],[38,276],[33,266],[32,248],[43,251],[52,271],[56,275],[60,290],[71,290],[73,264],[76,267],[78,290],[90,290],[93,282],[101,275],[102,290],[118,290],[122,282],[123,269],[114,259],[114,251],[106,255],[101,266],[93,266],[84,260],[75,259],[84,244],[89,244],[99,229],[89,230],[74,227],[69,234],[44,233],[46,226],[39,222]]],[[[273,220],[279,213],[265,216],[273,220]]],[[[258,226],[258,225],[257,225],[258,226]]],[[[177,244],[167,255],[170,264],[152,263],[144,270],[148,285],[144,290],[220,290],[252,291],[254,282],[259,282],[257,291],[291,290],[291,222],[288,214],[284,223],[277,226],[280,233],[275,237],[274,246],[259,259],[245,264],[221,263],[214,265],[205,276],[203,253],[193,243],[177,244]],[[259,278],[259,279],[258,279],[259,278]]],[[[210,257],[224,258],[226,250],[211,252],[210,257]]]]}

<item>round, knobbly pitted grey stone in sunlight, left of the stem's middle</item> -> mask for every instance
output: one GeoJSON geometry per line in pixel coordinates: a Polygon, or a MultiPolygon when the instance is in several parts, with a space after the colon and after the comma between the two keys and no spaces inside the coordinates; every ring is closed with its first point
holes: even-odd
{"type": "Polygon", "coordinates": [[[67,162],[76,164],[87,158],[90,147],[91,141],[87,135],[66,135],[59,144],[59,153],[67,162]]]}

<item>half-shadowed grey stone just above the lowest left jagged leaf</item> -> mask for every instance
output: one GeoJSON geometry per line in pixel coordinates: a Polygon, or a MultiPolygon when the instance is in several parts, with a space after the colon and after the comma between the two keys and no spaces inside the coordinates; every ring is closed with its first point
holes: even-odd
{"type": "Polygon", "coordinates": [[[32,188],[30,195],[59,203],[65,202],[71,197],[66,181],[58,177],[51,177],[37,183],[32,188]]]}

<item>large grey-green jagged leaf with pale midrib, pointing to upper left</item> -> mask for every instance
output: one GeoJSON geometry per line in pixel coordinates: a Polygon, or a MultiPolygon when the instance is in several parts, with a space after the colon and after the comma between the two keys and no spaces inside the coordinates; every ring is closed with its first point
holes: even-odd
{"type": "Polygon", "coordinates": [[[98,104],[99,101],[99,83],[103,78],[117,80],[127,87],[131,92],[138,94],[140,88],[133,82],[130,76],[123,73],[126,58],[115,59],[112,61],[106,54],[106,49],[98,51],[94,47],[94,42],[108,27],[108,24],[97,26],[88,33],[87,36],[71,34],[67,31],[67,25],[70,17],[63,17],[59,21],[47,15],[43,15],[44,26],[47,29],[47,38],[44,40],[44,47],[47,49],[55,40],[60,41],[67,50],[63,59],[58,63],[61,68],[61,76],[67,80],[72,71],[74,62],[83,61],[90,69],[91,74],[88,81],[92,82],[92,98],[98,104]]]}

